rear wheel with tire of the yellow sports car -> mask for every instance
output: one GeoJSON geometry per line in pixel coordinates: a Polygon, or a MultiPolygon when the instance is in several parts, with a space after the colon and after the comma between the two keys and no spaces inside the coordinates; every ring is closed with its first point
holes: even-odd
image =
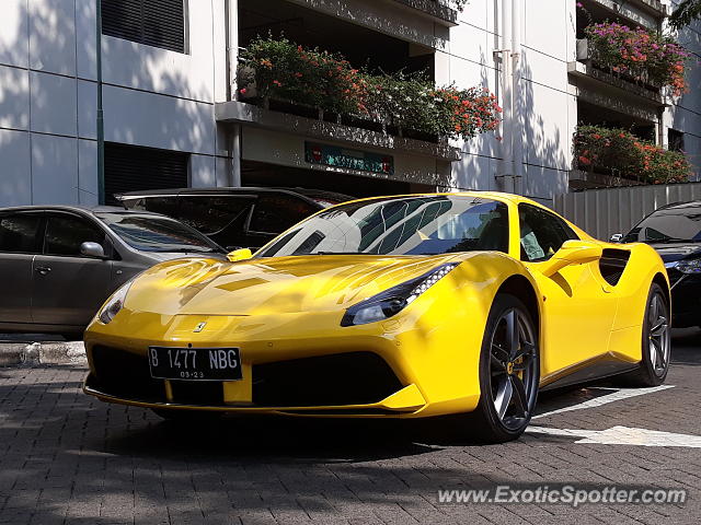
{"type": "Polygon", "coordinates": [[[650,285],[647,293],[641,346],[643,359],[637,370],[623,376],[625,382],[631,386],[640,387],[662,385],[669,371],[671,341],[669,302],[667,294],[656,282],[650,285]]]}

